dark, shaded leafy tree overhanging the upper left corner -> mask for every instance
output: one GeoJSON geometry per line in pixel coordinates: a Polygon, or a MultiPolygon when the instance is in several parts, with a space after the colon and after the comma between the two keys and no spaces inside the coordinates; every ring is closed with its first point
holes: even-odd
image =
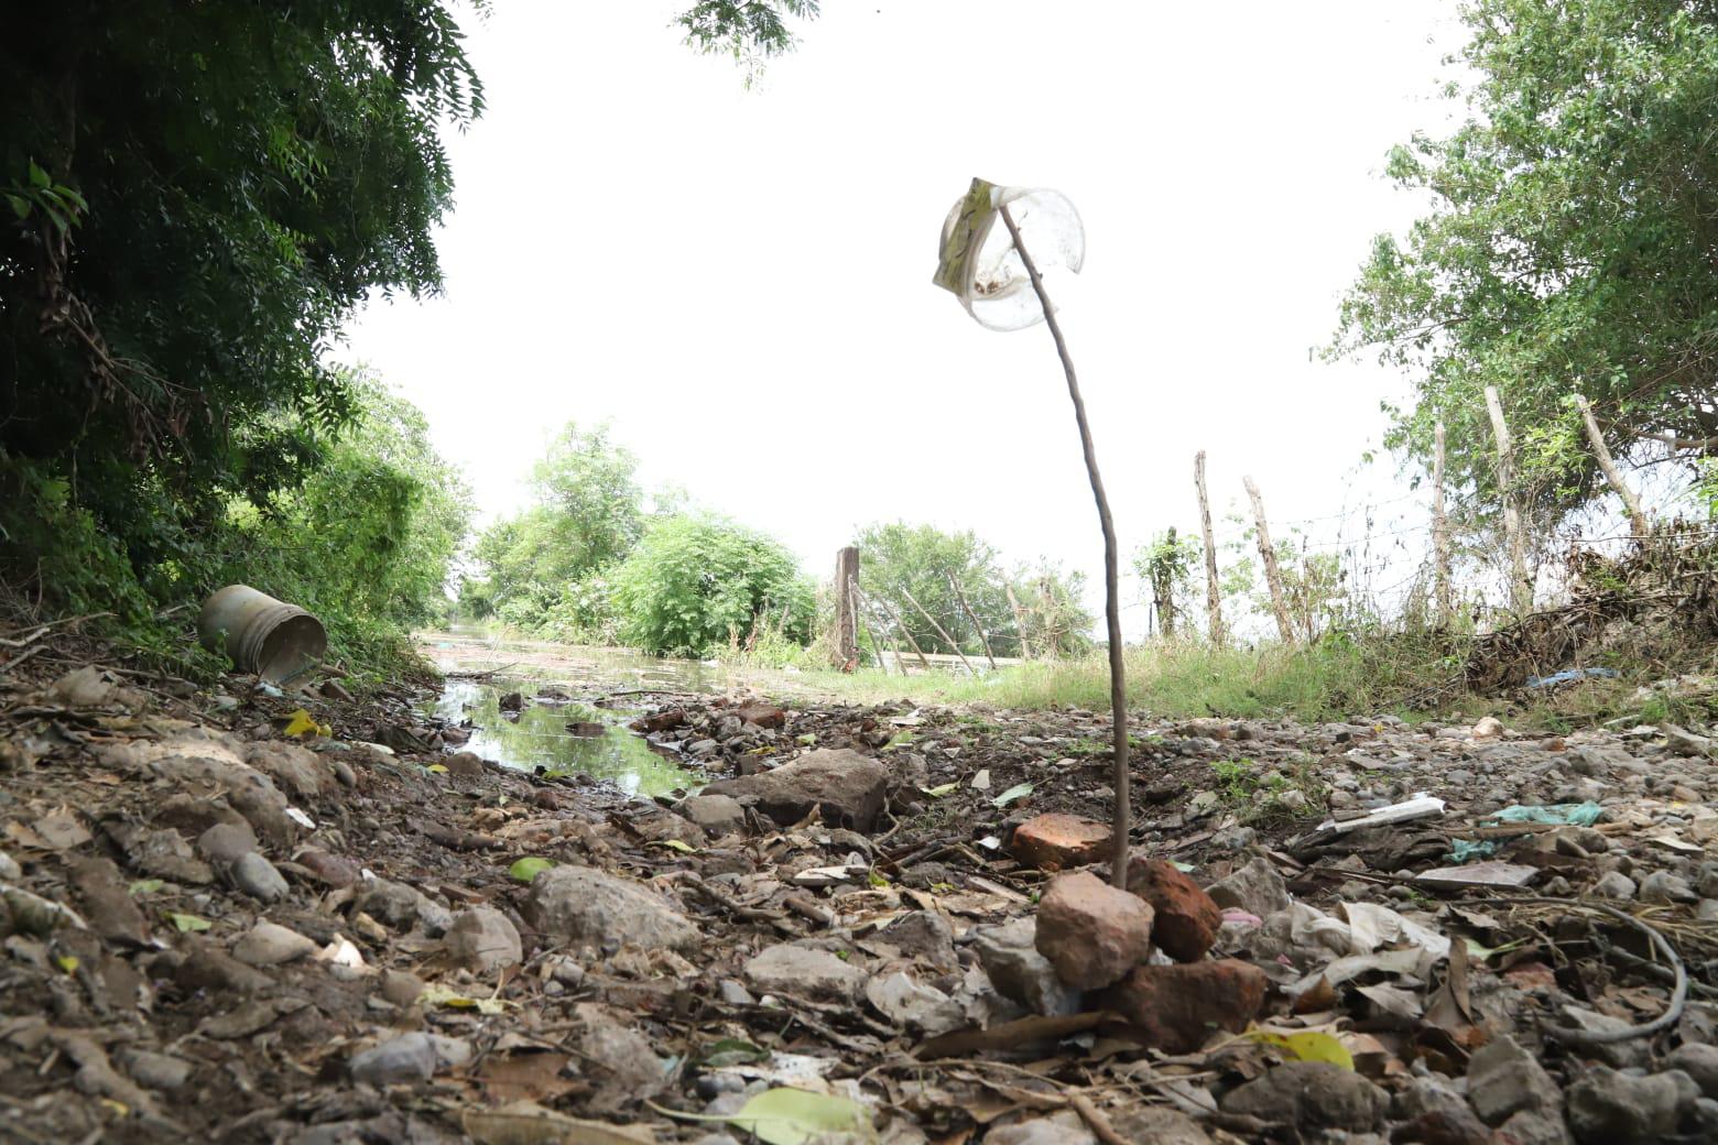
{"type": "Polygon", "coordinates": [[[440,0],[9,12],[0,501],[65,479],[151,577],[290,489],[357,412],[320,350],[440,285],[438,130],[479,110],[440,0]]]}

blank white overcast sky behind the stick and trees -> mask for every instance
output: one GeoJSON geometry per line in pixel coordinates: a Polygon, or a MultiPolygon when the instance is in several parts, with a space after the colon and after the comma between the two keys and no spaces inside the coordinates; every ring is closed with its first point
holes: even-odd
{"type": "Polygon", "coordinates": [[[1448,122],[1453,3],[828,0],[752,91],[682,46],[675,7],[467,19],[488,112],[450,141],[447,294],[376,302],[338,354],[424,410],[486,518],[526,503],[558,426],[608,419],[646,484],[814,573],[905,518],[1098,584],[1048,331],[986,331],[929,282],[972,175],[1084,216],[1084,273],[1050,287],[1124,554],[1196,525],[1199,448],[1218,510],[1244,474],[1285,520],[1390,484],[1356,465],[1404,379],[1309,348],[1421,206],[1380,170],[1448,122]]]}

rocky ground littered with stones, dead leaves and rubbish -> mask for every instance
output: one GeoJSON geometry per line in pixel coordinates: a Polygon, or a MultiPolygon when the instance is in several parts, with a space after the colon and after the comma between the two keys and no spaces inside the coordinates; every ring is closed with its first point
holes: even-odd
{"type": "Polygon", "coordinates": [[[3,1140],[1718,1140],[1694,731],[1139,718],[1117,891],[1093,712],[651,695],[655,802],[24,640],[3,1140]]]}

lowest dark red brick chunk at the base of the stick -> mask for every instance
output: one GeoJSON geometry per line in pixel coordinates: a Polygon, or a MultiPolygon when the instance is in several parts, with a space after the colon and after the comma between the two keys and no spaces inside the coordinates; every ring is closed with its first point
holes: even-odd
{"type": "Polygon", "coordinates": [[[1240,1033],[1264,1004],[1270,978],[1234,958],[1184,966],[1137,966],[1091,1004],[1113,1009],[1146,1045],[1191,1054],[1216,1030],[1240,1033]]]}

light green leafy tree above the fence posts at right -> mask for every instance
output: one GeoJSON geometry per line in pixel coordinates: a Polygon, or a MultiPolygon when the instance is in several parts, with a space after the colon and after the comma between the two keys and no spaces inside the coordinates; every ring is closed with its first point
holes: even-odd
{"type": "Polygon", "coordinates": [[[1611,451],[1718,446],[1718,9],[1689,0],[1471,0],[1469,118],[1390,154],[1433,209],[1380,237],[1333,352],[1376,348],[1417,400],[1390,443],[1495,489],[1483,388],[1517,426],[1522,482],[1567,512],[1599,491],[1570,398],[1611,451]]]}

